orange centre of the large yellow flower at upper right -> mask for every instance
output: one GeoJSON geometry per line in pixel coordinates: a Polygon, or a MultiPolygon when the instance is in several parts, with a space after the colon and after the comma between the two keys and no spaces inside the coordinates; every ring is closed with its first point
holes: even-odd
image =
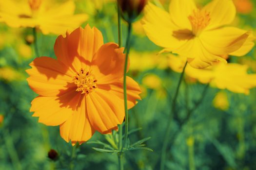
{"type": "Polygon", "coordinates": [[[201,11],[199,9],[194,10],[193,14],[188,17],[191,26],[192,32],[194,35],[198,35],[201,31],[210,23],[210,13],[207,11],[201,11]]]}

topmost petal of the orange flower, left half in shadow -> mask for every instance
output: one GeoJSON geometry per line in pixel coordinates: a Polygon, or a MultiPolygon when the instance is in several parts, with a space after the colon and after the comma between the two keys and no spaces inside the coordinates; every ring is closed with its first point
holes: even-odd
{"type": "Polygon", "coordinates": [[[73,65],[73,69],[75,69],[76,65],[73,60],[78,57],[81,67],[86,69],[86,65],[90,64],[94,54],[102,45],[101,32],[97,28],[87,25],[84,29],[79,27],[71,34],[67,33],[65,38],[60,35],[55,42],[54,51],[58,60],[66,66],[72,67],[73,65]]]}

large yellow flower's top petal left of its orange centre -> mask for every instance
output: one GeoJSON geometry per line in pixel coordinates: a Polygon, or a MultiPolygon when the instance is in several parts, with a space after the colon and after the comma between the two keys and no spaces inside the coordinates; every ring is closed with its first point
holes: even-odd
{"type": "Polygon", "coordinates": [[[193,13],[193,10],[196,9],[197,7],[194,0],[171,0],[169,6],[171,19],[180,29],[191,30],[188,17],[193,13]]]}

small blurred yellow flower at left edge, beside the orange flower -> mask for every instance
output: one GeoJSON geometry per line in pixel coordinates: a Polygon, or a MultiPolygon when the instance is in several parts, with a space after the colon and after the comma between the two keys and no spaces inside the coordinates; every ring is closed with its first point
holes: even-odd
{"type": "Polygon", "coordinates": [[[5,81],[14,81],[14,80],[20,80],[23,76],[16,71],[14,68],[10,67],[2,67],[0,68],[0,79],[5,81]]]}

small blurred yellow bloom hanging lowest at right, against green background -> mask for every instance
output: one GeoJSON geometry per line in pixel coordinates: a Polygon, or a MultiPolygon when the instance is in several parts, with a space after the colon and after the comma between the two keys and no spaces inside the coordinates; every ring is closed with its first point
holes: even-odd
{"type": "Polygon", "coordinates": [[[220,91],[216,94],[214,100],[213,100],[213,105],[217,109],[220,110],[228,110],[229,108],[229,102],[228,102],[228,96],[227,93],[224,91],[220,91]]]}

